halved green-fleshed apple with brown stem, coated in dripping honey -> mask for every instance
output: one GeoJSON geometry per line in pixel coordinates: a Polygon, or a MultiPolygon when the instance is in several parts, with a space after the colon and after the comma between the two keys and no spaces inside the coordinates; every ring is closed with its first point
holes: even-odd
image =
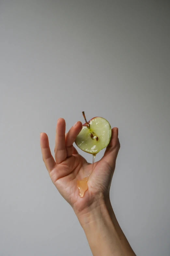
{"type": "Polygon", "coordinates": [[[84,111],[82,112],[86,123],[78,134],[75,143],[83,151],[97,154],[105,148],[111,139],[111,127],[103,117],[93,117],[87,122],[84,111]]]}

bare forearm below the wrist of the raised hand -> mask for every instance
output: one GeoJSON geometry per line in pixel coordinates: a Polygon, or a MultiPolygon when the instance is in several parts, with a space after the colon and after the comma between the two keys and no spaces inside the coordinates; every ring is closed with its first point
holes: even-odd
{"type": "Polygon", "coordinates": [[[110,201],[98,201],[78,214],[93,256],[135,255],[115,217],[110,201]]]}

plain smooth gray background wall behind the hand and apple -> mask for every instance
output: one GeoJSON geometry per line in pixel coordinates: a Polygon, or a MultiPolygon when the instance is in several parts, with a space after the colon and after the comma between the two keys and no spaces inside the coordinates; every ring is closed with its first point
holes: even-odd
{"type": "Polygon", "coordinates": [[[169,6],[0,2],[1,256],[91,255],[39,146],[46,132],[53,151],[57,118],[68,130],[81,111],[119,128],[111,201],[134,251],[170,255],[169,6]]]}

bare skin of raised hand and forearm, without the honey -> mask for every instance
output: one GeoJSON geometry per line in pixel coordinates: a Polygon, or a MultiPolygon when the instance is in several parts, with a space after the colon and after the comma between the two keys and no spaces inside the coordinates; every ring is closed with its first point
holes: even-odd
{"type": "Polygon", "coordinates": [[[43,161],[53,184],[72,206],[85,231],[93,256],[135,255],[113,212],[109,190],[120,149],[118,128],[112,129],[112,137],[102,159],[94,163],[88,180],[88,190],[79,196],[77,180],[87,177],[92,170],[73,143],[82,129],[77,122],[65,134],[65,120],[59,118],[55,136],[55,160],[51,155],[46,133],[40,134],[43,161]]]}

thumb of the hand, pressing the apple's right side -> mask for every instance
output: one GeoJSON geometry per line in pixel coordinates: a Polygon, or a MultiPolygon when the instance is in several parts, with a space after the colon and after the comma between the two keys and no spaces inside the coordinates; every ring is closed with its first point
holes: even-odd
{"type": "Polygon", "coordinates": [[[118,128],[112,128],[112,136],[109,145],[106,147],[106,151],[101,161],[106,162],[109,168],[114,172],[116,158],[120,149],[120,142],[118,138],[118,128]]]}

